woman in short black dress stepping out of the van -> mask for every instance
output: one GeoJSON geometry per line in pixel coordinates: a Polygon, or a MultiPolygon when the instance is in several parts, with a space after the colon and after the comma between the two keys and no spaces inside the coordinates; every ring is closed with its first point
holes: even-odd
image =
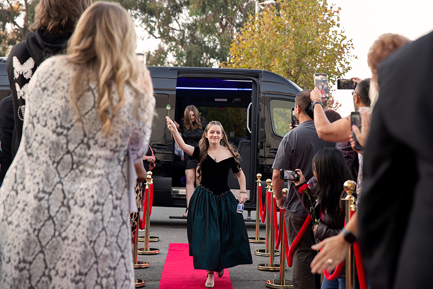
{"type": "MultiPolygon", "coordinates": [[[[183,113],[183,118],[180,120],[180,126],[174,123],[176,128],[182,133],[183,141],[193,147],[198,146],[198,142],[203,135],[204,128],[207,122],[200,116],[198,109],[193,105],[188,105],[183,113]]],[[[191,159],[188,154],[184,154],[185,158],[185,194],[186,194],[186,210],[183,217],[188,215],[188,205],[194,192],[194,182],[197,178],[198,160],[191,159]]]]}

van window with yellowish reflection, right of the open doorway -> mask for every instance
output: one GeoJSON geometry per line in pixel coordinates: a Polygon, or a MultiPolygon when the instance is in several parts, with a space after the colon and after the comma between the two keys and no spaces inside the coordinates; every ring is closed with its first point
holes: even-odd
{"type": "Polygon", "coordinates": [[[294,101],[271,99],[269,101],[269,113],[271,115],[272,132],[284,137],[290,130],[292,123],[292,108],[295,107],[294,101]]]}

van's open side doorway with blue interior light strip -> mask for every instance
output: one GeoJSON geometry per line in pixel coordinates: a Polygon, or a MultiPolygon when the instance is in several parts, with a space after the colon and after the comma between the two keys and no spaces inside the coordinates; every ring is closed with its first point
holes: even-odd
{"type": "MultiPolygon", "coordinates": [[[[246,209],[255,208],[257,174],[257,109],[260,71],[234,69],[177,68],[177,119],[188,105],[197,107],[207,121],[222,123],[229,141],[238,147],[241,167],[247,181],[249,201],[246,209]],[[248,121],[247,121],[248,120],[248,121]]],[[[228,185],[237,195],[239,182],[232,173],[228,185]]]]}

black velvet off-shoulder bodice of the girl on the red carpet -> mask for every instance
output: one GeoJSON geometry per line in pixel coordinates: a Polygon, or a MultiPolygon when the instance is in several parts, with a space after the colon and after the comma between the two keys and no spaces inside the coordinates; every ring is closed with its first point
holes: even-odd
{"type": "MultiPolygon", "coordinates": [[[[198,158],[200,149],[194,148],[194,153],[191,158],[198,158]]],[[[240,171],[235,162],[235,157],[230,157],[222,161],[216,162],[209,155],[201,164],[201,182],[200,185],[212,192],[215,196],[221,196],[230,188],[227,184],[229,180],[230,169],[233,173],[240,171]]]]}

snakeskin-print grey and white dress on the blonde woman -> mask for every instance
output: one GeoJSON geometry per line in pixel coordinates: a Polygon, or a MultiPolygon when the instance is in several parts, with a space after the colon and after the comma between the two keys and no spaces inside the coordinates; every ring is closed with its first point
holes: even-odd
{"type": "Polygon", "coordinates": [[[151,123],[137,119],[125,87],[106,138],[92,82],[74,121],[73,70],[52,57],[29,83],[23,138],[0,189],[2,288],[134,288],[127,152],[141,161],[151,123]]]}

